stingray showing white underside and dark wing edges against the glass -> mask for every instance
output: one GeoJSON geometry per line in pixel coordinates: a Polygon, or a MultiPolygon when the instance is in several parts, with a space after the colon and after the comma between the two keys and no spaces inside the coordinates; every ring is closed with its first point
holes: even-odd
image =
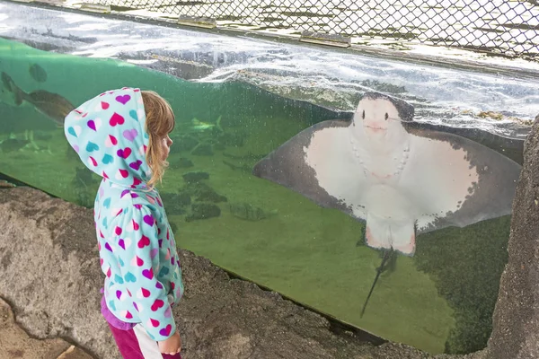
{"type": "Polygon", "coordinates": [[[365,223],[367,246],[384,250],[373,288],[394,253],[414,255],[416,235],[510,215],[515,196],[517,162],[412,126],[413,115],[411,104],[367,92],[350,121],[308,127],[252,170],[365,223]]]}

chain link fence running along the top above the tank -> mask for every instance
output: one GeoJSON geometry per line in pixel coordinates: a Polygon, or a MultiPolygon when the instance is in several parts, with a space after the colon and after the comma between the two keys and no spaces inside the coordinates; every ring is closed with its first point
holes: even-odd
{"type": "Polygon", "coordinates": [[[316,31],[539,59],[539,0],[91,0],[123,10],[214,18],[220,26],[316,31]]]}

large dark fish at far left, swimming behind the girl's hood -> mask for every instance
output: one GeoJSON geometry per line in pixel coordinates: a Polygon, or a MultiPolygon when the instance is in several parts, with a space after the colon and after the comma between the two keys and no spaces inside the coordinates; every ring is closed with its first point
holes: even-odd
{"type": "MultiPolygon", "coordinates": [[[[45,90],[37,90],[30,93],[24,92],[17,86],[9,74],[1,75],[4,92],[9,92],[13,98],[14,106],[21,106],[24,101],[30,103],[34,109],[52,119],[57,127],[64,127],[64,118],[75,109],[65,97],[45,90]]],[[[10,101],[12,102],[12,101],[10,101]]]]}

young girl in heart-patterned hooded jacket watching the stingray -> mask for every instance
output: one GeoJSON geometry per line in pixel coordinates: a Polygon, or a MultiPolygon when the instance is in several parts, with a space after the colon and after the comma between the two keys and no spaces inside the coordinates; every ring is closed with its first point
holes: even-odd
{"type": "Polygon", "coordinates": [[[183,293],[176,243],[154,188],[174,127],[155,92],[103,92],[71,111],[69,144],[102,176],[94,221],[105,284],[102,314],[125,359],[181,358],[171,306],[183,293]]]}

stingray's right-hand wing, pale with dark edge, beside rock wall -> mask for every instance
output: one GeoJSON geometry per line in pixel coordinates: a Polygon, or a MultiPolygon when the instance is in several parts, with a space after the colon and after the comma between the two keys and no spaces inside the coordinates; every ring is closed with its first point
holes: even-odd
{"type": "Polygon", "coordinates": [[[420,210],[419,232],[511,214],[521,170],[517,162],[462,136],[410,133],[413,151],[407,167],[415,175],[405,177],[402,188],[420,210]]]}

